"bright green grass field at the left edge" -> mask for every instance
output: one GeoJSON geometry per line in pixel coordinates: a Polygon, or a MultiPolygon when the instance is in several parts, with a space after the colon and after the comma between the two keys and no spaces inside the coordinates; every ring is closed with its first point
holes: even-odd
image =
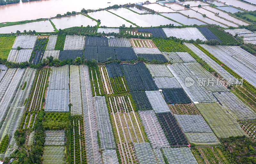
{"type": "Polygon", "coordinates": [[[7,59],[16,35],[0,36],[0,58],[7,59]]]}

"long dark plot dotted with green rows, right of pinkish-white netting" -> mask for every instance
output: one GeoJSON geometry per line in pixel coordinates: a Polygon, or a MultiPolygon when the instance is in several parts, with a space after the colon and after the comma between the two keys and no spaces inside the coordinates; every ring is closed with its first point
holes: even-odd
{"type": "MultiPolygon", "coordinates": [[[[175,121],[171,112],[158,113],[157,117],[160,121],[164,133],[171,146],[187,146],[188,141],[182,133],[179,125],[175,121]]],[[[161,129],[162,130],[162,129],[161,129]]]]}

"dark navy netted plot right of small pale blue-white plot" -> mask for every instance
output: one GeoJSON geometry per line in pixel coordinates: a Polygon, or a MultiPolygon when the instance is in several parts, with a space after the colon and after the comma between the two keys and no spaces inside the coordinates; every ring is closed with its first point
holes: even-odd
{"type": "Polygon", "coordinates": [[[184,92],[184,90],[180,88],[164,88],[162,89],[162,93],[164,95],[164,100],[166,103],[170,104],[178,104],[178,103],[191,103],[190,99],[184,92]]]}

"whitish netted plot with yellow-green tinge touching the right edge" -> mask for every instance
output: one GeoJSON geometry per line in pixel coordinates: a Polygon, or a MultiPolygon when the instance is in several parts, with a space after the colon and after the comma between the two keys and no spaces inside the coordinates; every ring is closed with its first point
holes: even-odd
{"type": "Polygon", "coordinates": [[[213,93],[227,112],[236,121],[256,119],[256,114],[231,92],[213,93]]]}

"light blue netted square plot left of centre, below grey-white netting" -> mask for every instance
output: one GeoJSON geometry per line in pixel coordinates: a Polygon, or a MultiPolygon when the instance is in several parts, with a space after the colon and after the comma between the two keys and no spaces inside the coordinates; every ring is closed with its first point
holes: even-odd
{"type": "Polygon", "coordinates": [[[47,90],[45,99],[45,111],[65,112],[69,111],[69,90],[47,90]]]}

